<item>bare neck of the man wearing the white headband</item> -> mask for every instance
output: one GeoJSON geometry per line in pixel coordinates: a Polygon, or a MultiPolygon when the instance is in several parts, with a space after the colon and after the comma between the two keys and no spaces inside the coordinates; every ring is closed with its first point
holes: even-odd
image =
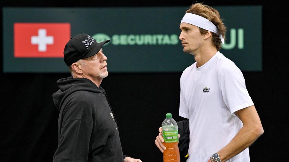
{"type": "Polygon", "coordinates": [[[197,62],[197,67],[203,66],[208,62],[216,53],[217,49],[213,46],[204,47],[199,49],[194,53],[195,60],[197,62]]]}

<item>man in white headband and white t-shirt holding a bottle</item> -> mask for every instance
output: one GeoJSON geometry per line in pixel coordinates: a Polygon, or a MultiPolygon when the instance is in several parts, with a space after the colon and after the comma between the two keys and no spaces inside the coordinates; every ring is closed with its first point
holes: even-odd
{"type": "MultiPolygon", "coordinates": [[[[193,4],[180,24],[183,51],[196,62],[180,79],[179,115],[189,119],[189,162],[249,162],[248,147],[263,134],[238,67],[219,50],[225,26],[219,12],[193,4]]],[[[165,150],[162,129],[155,144],[165,150]]]]}

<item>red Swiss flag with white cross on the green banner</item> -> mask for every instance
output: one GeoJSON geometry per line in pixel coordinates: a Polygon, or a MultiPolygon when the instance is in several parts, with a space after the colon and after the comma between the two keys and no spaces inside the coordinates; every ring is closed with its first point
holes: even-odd
{"type": "Polygon", "coordinates": [[[70,23],[14,23],[14,57],[64,57],[70,23]]]}

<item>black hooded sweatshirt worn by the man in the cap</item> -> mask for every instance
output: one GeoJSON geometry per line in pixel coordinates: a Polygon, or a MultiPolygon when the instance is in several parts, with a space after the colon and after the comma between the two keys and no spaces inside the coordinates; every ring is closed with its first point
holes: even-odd
{"type": "Polygon", "coordinates": [[[53,161],[123,162],[111,106],[103,88],[86,78],[63,78],[53,101],[60,111],[53,161]]]}

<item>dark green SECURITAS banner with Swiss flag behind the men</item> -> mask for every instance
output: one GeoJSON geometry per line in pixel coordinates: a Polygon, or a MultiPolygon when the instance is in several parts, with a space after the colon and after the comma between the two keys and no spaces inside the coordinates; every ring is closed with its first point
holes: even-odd
{"type": "MultiPolygon", "coordinates": [[[[227,27],[226,41],[220,52],[235,62],[242,71],[262,71],[262,6],[214,8],[220,12],[227,27]]],[[[186,9],[187,7],[5,7],[2,9],[3,71],[68,72],[63,58],[59,56],[62,53],[53,53],[54,44],[58,41],[57,36],[63,32],[58,35],[54,31],[55,35],[51,34],[50,29],[45,28],[45,24],[49,23],[52,24],[51,28],[55,24],[64,24],[66,28],[70,25],[71,37],[87,33],[98,42],[110,39],[111,42],[103,47],[108,58],[109,72],[182,72],[195,62],[193,55],[183,52],[179,40],[179,25],[186,9]],[[27,32],[21,32],[23,25],[26,27],[30,23],[34,25],[33,28],[28,26],[27,30],[25,29],[27,32]],[[27,37],[27,33],[30,29],[34,30],[35,25],[42,27],[38,32],[32,31],[33,34],[27,37]],[[43,35],[47,39],[41,39],[44,40],[44,44],[41,44],[38,40],[43,38],[43,35]],[[26,46],[21,42],[28,44],[26,46]],[[38,50],[35,57],[34,54],[26,54],[30,52],[29,46],[38,50]],[[46,54],[41,56],[45,52],[46,54]]],[[[55,27],[55,30],[57,29],[58,27],[55,27]]],[[[65,37],[63,40],[68,41],[69,38],[65,37]]],[[[61,44],[63,49],[64,45],[61,44]]]]}

